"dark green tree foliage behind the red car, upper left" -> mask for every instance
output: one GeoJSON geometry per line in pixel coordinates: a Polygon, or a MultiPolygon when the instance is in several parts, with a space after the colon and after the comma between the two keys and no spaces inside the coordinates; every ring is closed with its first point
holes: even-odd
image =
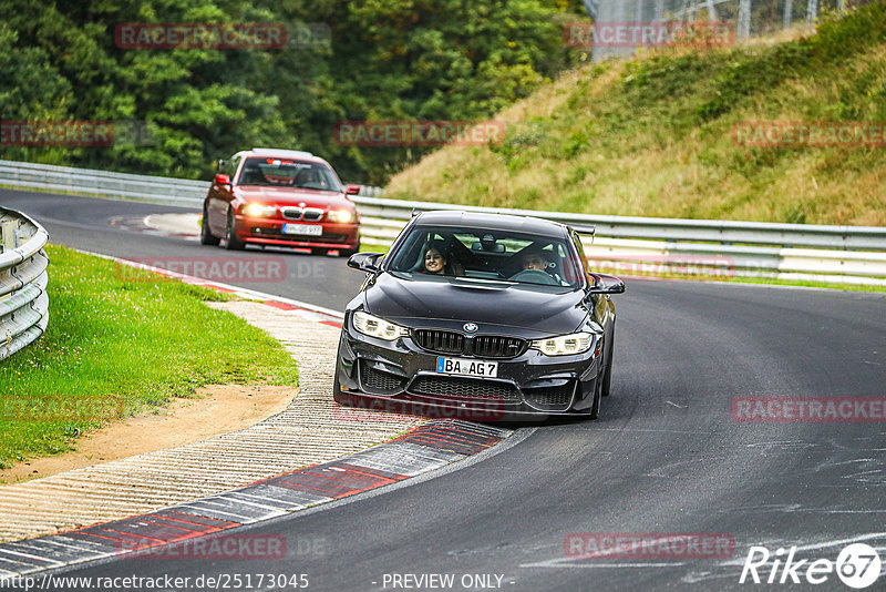
{"type": "Polygon", "coordinates": [[[342,120],[473,120],[571,63],[560,0],[100,0],[0,4],[0,116],[144,121],[151,145],[0,146],[0,157],[207,178],[254,145],[320,154],[348,181],[383,183],[427,149],[338,145],[342,120]],[[121,23],[321,23],[274,50],[120,49],[121,23]]]}

